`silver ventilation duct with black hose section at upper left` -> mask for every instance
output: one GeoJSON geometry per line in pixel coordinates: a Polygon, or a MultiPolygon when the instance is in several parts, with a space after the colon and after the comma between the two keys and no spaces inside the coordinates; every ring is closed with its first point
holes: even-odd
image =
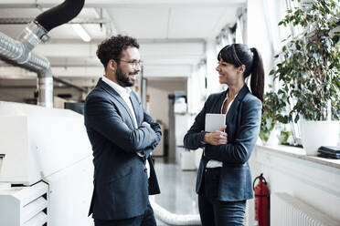
{"type": "Polygon", "coordinates": [[[31,51],[40,41],[48,41],[48,31],[68,23],[80,13],[83,6],[84,0],[66,0],[37,15],[18,37],[18,41],[0,32],[0,59],[37,73],[37,104],[40,106],[53,108],[53,77],[48,59],[31,51]]]}

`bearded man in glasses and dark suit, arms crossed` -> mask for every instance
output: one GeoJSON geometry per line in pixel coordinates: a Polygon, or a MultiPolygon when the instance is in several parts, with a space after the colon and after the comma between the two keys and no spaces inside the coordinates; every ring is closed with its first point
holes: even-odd
{"type": "Polygon", "coordinates": [[[95,226],[154,226],[149,194],[160,193],[151,151],[162,133],[131,90],[142,61],[130,36],[98,46],[105,75],[85,100],[84,118],[93,149],[95,226]]]}

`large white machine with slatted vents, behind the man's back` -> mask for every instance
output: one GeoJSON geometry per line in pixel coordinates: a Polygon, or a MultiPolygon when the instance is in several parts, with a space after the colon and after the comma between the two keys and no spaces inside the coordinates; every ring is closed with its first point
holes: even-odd
{"type": "Polygon", "coordinates": [[[0,225],[93,225],[82,115],[0,101],[0,225]]]}

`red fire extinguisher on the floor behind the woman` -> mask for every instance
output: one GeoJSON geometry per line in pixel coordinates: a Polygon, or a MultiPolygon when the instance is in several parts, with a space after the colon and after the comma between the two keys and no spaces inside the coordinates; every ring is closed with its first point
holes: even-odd
{"type": "Polygon", "coordinates": [[[252,183],[252,189],[255,192],[255,221],[259,226],[270,225],[270,192],[267,187],[267,181],[263,178],[263,173],[256,177],[252,183]],[[255,186],[256,180],[260,180],[255,186]]]}

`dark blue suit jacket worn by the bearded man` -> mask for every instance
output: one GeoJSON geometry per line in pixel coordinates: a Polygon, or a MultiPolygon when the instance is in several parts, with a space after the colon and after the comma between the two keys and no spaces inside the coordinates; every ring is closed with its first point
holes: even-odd
{"type": "Polygon", "coordinates": [[[93,149],[90,213],[94,219],[119,220],[142,215],[148,195],[160,193],[149,154],[161,139],[161,128],[133,92],[130,98],[138,128],[133,126],[133,115],[125,101],[101,79],[85,101],[85,126],[93,149]],[[140,151],[145,153],[144,158],[137,155],[140,151]],[[151,168],[149,180],[145,159],[151,168]]]}

